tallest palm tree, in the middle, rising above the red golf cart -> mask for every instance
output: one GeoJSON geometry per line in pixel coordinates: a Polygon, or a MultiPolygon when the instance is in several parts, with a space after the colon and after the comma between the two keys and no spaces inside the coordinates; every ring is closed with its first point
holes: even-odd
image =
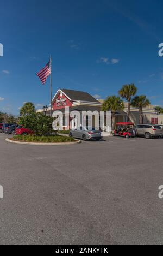
{"type": "Polygon", "coordinates": [[[123,99],[128,101],[128,113],[127,113],[127,122],[130,121],[130,104],[131,97],[135,96],[137,88],[134,84],[123,85],[121,90],[118,92],[123,99]]]}

